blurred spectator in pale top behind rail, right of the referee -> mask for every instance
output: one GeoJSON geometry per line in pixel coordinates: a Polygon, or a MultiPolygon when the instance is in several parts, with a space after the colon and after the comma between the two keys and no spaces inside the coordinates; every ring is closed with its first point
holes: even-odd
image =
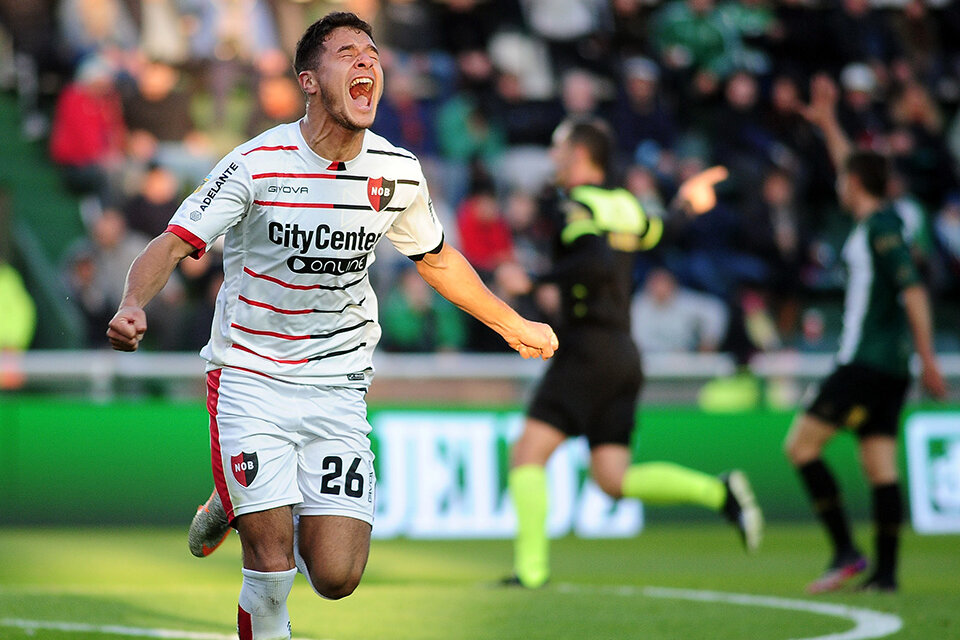
{"type": "Polygon", "coordinates": [[[643,353],[716,351],[727,329],[723,301],[680,287],[653,269],[630,306],[633,338],[643,353]]]}

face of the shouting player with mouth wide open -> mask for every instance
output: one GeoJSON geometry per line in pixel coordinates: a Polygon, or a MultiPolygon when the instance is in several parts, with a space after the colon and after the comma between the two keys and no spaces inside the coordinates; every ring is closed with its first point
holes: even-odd
{"type": "Polygon", "coordinates": [[[377,47],[363,31],[334,29],[323,43],[317,67],[323,108],[341,127],[367,129],[383,94],[383,69],[377,47]]]}

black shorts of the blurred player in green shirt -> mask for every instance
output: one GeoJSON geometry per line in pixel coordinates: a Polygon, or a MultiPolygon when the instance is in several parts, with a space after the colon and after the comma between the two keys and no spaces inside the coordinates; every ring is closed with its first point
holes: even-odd
{"type": "Polygon", "coordinates": [[[807,413],[864,438],[896,437],[910,379],[872,367],[846,364],[820,384],[807,413]]]}

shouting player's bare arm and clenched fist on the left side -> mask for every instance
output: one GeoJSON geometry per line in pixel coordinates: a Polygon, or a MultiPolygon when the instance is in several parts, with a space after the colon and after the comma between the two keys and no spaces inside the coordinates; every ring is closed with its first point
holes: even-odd
{"type": "Polygon", "coordinates": [[[136,351],[147,330],[143,308],[170,279],[180,261],[194,253],[193,245],[172,233],[161,233],[137,256],[123,288],[123,300],[110,320],[107,337],[117,351],[136,351]]]}

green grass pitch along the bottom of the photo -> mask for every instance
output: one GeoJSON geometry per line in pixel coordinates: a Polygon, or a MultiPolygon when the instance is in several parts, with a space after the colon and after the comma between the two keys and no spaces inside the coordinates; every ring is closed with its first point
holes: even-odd
{"type": "MultiPolygon", "coordinates": [[[[858,530],[868,547],[869,531],[858,530]]],[[[646,587],[709,590],[895,614],[896,640],[960,638],[960,536],[903,540],[902,589],[812,597],[803,586],[826,560],[813,525],[778,524],[756,556],[726,527],[650,523],[626,540],[554,541],[553,579],[527,592],[495,586],[508,541],[374,540],[357,592],[317,598],[297,578],[294,637],[313,640],[627,639],[856,640],[853,621],[811,611],[654,597],[646,587]]],[[[218,638],[234,633],[240,587],[235,535],[204,560],[176,529],[0,529],[0,638],[218,638]],[[68,623],[63,629],[12,620],[68,623]],[[130,627],[128,635],[98,631],[130,627]],[[180,630],[184,636],[162,636],[180,630]],[[138,632],[139,633],[139,632],[138,632]],[[190,635],[192,634],[192,635],[190,635]]]]}

